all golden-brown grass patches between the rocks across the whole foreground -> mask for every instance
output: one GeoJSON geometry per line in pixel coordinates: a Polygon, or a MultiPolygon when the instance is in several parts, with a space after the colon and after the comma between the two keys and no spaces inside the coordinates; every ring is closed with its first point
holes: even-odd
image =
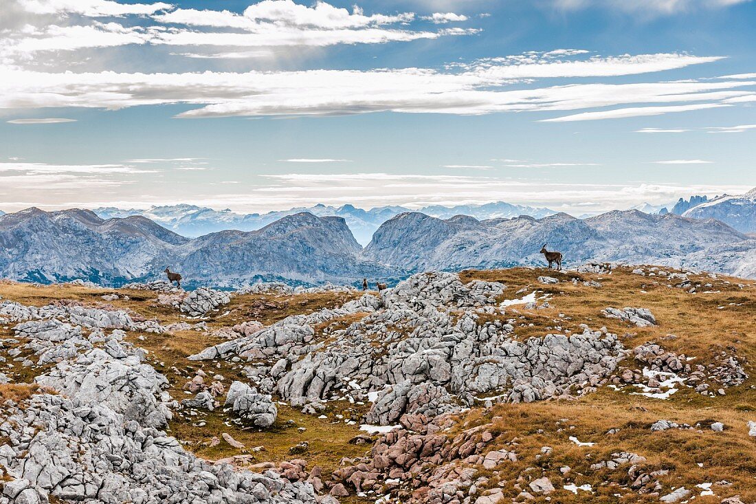
{"type": "MultiPolygon", "coordinates": [[[[692,363],[700,364],[713,362],[714,356],[721,350],[733,348],[739,358],[745,357],[748,362],[756,362],[754,282],[721,276],[716,279],[708,278],[707,275],[691,276],[694,285],[698,282],[702,285],[713,284],[712,288],[699,288],[699,291],[717,292],[689,294],[667,285],[679,281],[668,282],[663,277],[633,275],[631,269],[624,268],[615,270],[612,274],[580,275],[582,279],[601,282],[601,288],[587,287],[581,283],[541,285],[536,278],[544,274],[547,274],[544,270],[507,269],[467,271],[460,276],[463,282],[475,278],[503,282],[509,286],[504,296],[507,298],[520,297],[533,290],[552,294],[549,300],[551,308],[528,311],[522,306],[512,306],[507,310],[504,318],[518,319],[515,333],[519,338],[559,332],[554,329],[556,325],[578,332],[581,332],[578,328],[581,323],[586,323],[591,328],[606,325],[609,331],[621,335],[623,344],[628,348],[646,341],[657,341],[667,350],[696,356],[697,359],[692,363]],[[515,294],[520,289],[525,289],[525,292],[515,294]],[[600,310],[606,306],[647,307],[654,313],[659,325],[636,328],[615,319],[605,319],[600,310]],[[564,316],[559,317],[559,313],[564,316]],[[660,339],[668,334],[675,334],[677,338],[664,341],[660,339]]],[[[556,275],[553,272],[551,274],[556,275]]],[[[573,276],[572,273],[566,273],[562,278],[573,276]]],[[[97,304],[102,302],[100,296],[107,292],[110,291],[70,285],[34,287],[0,283],[0,296],[38,306],[58,299],[97,304]]],[[[127,294],[132,299],[116,300],[112,303],[114,306],[127,308],[147,318],[160,319],[163,325],[183,320],[171,308],[157,306],[154,302],[155,293],[119,291],[119,294],[127,294]]],[[[235,297],[230,306],[212,314],[207,323],[213,329],[249,319],[269,324],[294,313],[338,306],[352,297],[345,294],[300,294],[293,297],[245,295],[235,297]],[[224,316],[228,310],[231,313],[224,316]]],[[[7,327],[0,329],[3,338],[11,336],[11,333],[7,327]]],[[[150,351],[150,361],[156,369],[168,376],[172,384],[170,391],[178,400],[190,397],[184,394],[181,386],[188,377],[194,375],[197,366],[204,366],[210,376],[224,375],[227,386],[231,379],[240,378],[239,370],[234,369],[229,362],[217,365],[186,360],[191,353],[218,343],[218,338],[208,334],[197,331],[178,331],[172,335],[130,333],[129,340],[150,351]],[[138,339],[139,336],[144,339],[138,339]]],[[[29,369],[20,369],[20,365],[12,359],[8,359],[6,366],[9,364],[13,366],[9,374],[16,372],[17,381],[29,382],[33,379],[29,369]]],[[[497,440],[518,438],[516,442],[519,445],[515,450],[519,462],[507,465],[498,476],[508,481],[504,485],[506,495],[516,495],[516,490],[511,489],[513,480],[529,466],[548,468],[548,474],[553,476],[559,474],[559,467],[569,465],[572,468],[568,474],[570,482],[574,481],[578,485],[591,484],[596,490],[596,494],[590,497],[590,502],[658,502],[658,497],[641,498],[637,494],[621,498],[614,496],[615,493],[624,494],[612,482],[626,483],[627,468],[624,471],[598,473],[589,470],[590,464],[609,459],[611,453],[631,451],[645,456],[649,467],[674,469],[668,477],[662,479],[670,486],[684,485],[690,490],[697,490],[695,485],[703,482],[727,480],[733,483],[732,487],[714,487],[717,498],[697,497],[696,502],[719,502],[723,496],[733,493],[740,493],[745,502],[752,502],[756,501],[756,438],[748,437],[745,424],[748,420],[756,420],[756,376],[751,366],[747,366],[747,370],[751,378],[742,386],[727,390],[724,397],[703,397],[692,389],[683,388],[670,400],[654,400],[630,395],[627,393],[629,390],[603,388],[596,394],[567,403],[498,405],[488,412],[473,409],[461,418],[460,428],[494,422],[496,430],[502,433],[497,440]],[[494,416],[500,418],[492,420],[494,416]],[[649,431],[649,425],[660,418],[690,425],[714,419],[723,422],[726,431],[649,431]],[[620,431],[618,434],[607,435],[609,428],[620,428],[620,431]],[[571,435],[581,441],[595,442],[596,445],[575,446],[568,440],[571,435]],[[551,446],[553,454],[537,458],[541,446],[551,446]],[[699,467],[699,463],[703,467],[699,467]]],[[[225,415],[216,410],[202,418],[184,419],[177,415],[170,431],[185,442],[187,449],[209,459],[249,452],[253,454],[254,462],[304,458],[309,467],[321,465],[328,470],[336,468],[342,456],[354,457],[366,453],[367,448],[364,446],[347,443],[358,433],[356,426],[345,425],[341,419],[336,418],[339,414],[345,415],[345,418],[351,416],[358,419],[363,411],[364,406],[329,403],[329,411],[326,413],[329,418],[319,419],[302,415],[288,406],[280,406],[276,424],[269,431],[261,432],[224,423],[225,415]],[[206,422],[206,425],[197,425],[200,422],[206,422]],[[300,432],[300,427],[305,428],[305,431],[300,432]],[[212,436],[219,436],[222,432],[228,432],[245,443],[249,450],[236,450],[223,442],[214,448],[206,446],[212,436]],[[310,443],[308,452],[301,456],[289,456],[287,452],[290,446],[300,440],[310,443]],[[253,453],[253,446],[264,446],[265,450],[253,453]]],[[[559,478],[553,478],[555,486],[558,481],[559,478]]],[[[554,496],[557,502],[589,502],[588,495],[582,492],[578,496],[572,496],[572,493],[558,490],[554,496]]]]}

